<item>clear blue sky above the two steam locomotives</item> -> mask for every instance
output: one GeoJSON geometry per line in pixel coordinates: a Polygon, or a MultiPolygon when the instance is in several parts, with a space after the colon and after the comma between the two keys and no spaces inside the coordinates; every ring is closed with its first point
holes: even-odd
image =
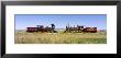
{"type": "Polygon", "coordinates": [[[66,28],[66,25],[96,26],[98,30],[107,30],[106,14],[15,14],[15,30],[36,27],[36,25],[66,28]]]}

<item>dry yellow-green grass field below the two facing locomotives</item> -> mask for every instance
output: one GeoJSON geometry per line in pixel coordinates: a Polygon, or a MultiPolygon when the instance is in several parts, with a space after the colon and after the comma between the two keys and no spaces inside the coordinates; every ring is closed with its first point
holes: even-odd
{"type": "Polygon", "coordinates": [[[106,44],[106,32],[99,33],[15,33],[15,44],[106,44]]]}

